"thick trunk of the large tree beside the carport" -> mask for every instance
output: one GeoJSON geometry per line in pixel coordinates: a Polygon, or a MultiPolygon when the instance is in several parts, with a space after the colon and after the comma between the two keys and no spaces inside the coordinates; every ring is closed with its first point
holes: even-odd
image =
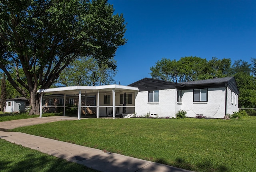
{"type": "Polygon", "coordinates": [[[40,115],[40,96],[38,96],[36,91],[30,92],[29,106],[29,115],[40,115]]]}

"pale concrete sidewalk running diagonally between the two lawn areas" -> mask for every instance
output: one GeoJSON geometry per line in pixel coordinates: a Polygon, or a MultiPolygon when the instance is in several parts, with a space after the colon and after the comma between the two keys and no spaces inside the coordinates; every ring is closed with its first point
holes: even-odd
{"type": "MultiPolygon", "coordinates": [[[[27,120],[29,121],[29,119],[27,120]]],[[[38,119],[36,119],[36,121],[37,120],[38,119]]],[[[15,122],[8,122],[10,124],[16,123],[17,121],[19,120],[15,120],[15,122]]],[[[41,122],[43,121],[46,120],[42,120],[41,122]]],[[[0,122],[0,128],[6,127],[5,129],[9,129],[6,125],[6,122],[0,122]],[[4,123],[5,125],[3,125],[4,123]]],[[[14,125],[9,125],[9,127],[13,126],[14,125]]],[[[76,162],[102,172],[190,172],[189,170],[183,170],[164,164],[132,158],[116,153],[104,152],[98,149],[28,135],[25,133],[0,131],[0,138],[17,145],[29,147],[31,149],[56,156],[58,158],[63,158],[70,162],[76,162]]]]}

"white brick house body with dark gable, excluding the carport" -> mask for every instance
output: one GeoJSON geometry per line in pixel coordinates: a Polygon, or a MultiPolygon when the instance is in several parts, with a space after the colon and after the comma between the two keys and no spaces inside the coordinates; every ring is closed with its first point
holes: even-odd
{"type": "Polygon", "coordinates": [[[144,78],[129,86],[139,88],[137,116],[150,112],[158,117],[175,117],[178,110],[185,110],[188,117],[223,118],[238,111],[239,91],[234,77],[183,83],[144,78]]]}

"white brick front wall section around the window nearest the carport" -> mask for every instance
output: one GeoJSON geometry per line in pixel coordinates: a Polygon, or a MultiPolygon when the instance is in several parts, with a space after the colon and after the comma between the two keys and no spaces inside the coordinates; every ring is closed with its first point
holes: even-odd
{"type": "Polygon", "coordinates": [[[158,117],[175,117],[177,90],[159,90],[159,102],[148,102],[148,91],[138,92],[135,100],[137,116],[156,114],[158,117]]]}

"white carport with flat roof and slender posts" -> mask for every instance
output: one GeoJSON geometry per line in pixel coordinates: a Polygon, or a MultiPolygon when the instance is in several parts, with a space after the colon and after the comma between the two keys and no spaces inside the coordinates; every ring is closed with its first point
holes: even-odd
{"type": "MultiPolygon", "coordinates": [[[[40,117],[42,117],[42,108],[43,108],[43,95],[44,94],[62,94],[64,95],[64,116],[65,116],[65,105],[66,105],[66,95],[78,95],[78,119],[81,119],[81,108],[87,108],[89,106],[81,106],[81,97],[82,95],[96,95],[96,109],[97,109],[97,118],[99,118],[100,107],[112,107],[113,119],[115,119],[115,109],[116,109],[116,93],[120,92],[134,92],[135,96],[138,93],[137,87],[132,86],[122,86],[122,85],[104,85],[104,86],[69,86],[69,87],[59,87],[59,88],[48,88],[40,89],[37,91],[40,96],[40,117]],[[100,94],[112,94],[112,106],[100,106],[100,94]]],[[[90,106],[92,107],[92,106],[90,106]]],[[[134,107],[135,106],[125,106],[125,107],[134,107]]]]}

